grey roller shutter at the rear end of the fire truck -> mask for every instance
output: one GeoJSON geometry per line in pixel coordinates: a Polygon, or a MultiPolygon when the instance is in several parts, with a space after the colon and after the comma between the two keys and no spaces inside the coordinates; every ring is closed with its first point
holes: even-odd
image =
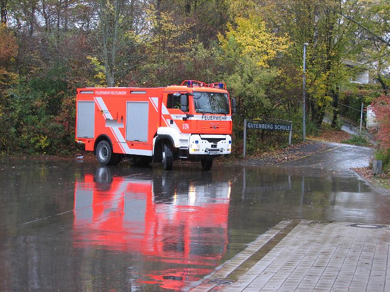
{"type": "Polygon", "coordinates": [[[77,137],[94,138],[94,136],[95,136],[95,102],[78,101],[77,137]]]}

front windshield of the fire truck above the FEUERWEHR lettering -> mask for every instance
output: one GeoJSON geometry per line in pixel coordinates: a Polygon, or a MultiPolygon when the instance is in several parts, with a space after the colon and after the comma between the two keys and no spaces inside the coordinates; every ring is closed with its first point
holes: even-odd
{"type": "Polygon", "coordinates": [[[198,113],[229,114],[227,93],[194,92],[195,111],[198,113]]]}

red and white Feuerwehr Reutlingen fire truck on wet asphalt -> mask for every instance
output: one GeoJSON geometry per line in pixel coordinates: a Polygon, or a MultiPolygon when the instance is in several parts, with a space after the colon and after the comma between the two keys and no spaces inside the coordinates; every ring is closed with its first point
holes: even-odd
{"type": "Polygon", "coordinates": [[[133,158],[171,170],[175,160],[200,161],[231,153],[234,98],[225,83],[185,80],[160,88],[77,90],[76,140],[103,165],[133,158]]]}

